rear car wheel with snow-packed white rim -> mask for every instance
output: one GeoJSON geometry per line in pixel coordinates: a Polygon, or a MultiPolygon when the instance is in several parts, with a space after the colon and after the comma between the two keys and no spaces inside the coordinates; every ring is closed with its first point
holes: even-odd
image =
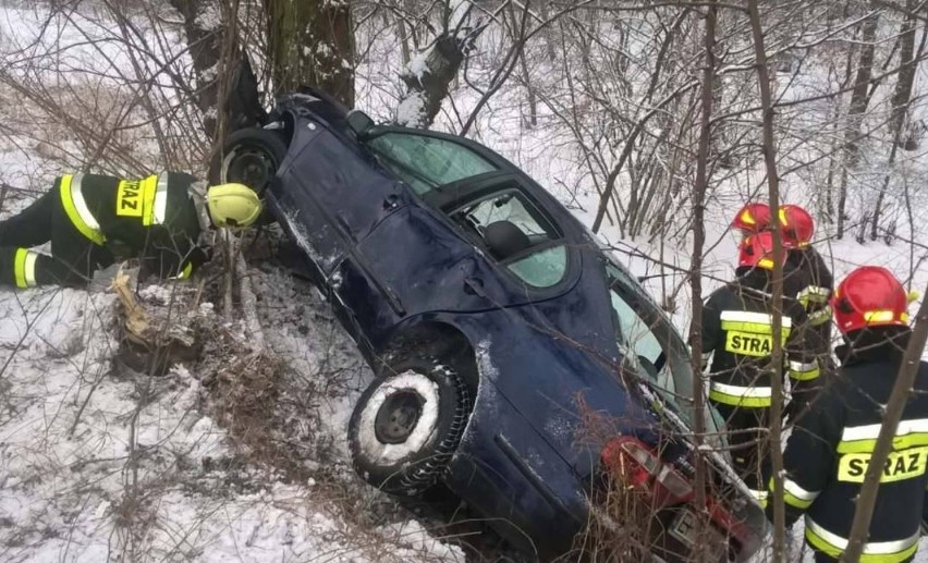
{"type": "Polygon", "coordinates": [[[365,390],[349,423],[357,474],[384,492],[417,495],[448,467],[471,414],[457,371],[432,357],[393,362],[365,390]]]}

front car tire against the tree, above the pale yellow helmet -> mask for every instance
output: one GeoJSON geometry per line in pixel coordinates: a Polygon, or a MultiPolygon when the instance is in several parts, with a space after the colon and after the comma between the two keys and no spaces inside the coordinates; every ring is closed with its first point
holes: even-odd
{"type": "MultiPolygon", "coordinates": [[[[286,143],[277,131],[247,127],[232,132],[213,159],[210,179],[213,184],[245,184],[264,199],[281,162],[286,157],[286,143]]],[[[259,224],[273,222],[265,209],[259,224]]]]}

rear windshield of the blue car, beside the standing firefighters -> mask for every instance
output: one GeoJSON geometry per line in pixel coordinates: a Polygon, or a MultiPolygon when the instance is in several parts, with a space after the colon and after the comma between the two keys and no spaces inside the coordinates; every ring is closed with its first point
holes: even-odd
{"type": "MultiPolygon", "coordinates": [[[[692,428],[693,368],[689,351],[667,315],[647,296],[640,284],[623,269],[608,264],[609,296],[615,340],[625,362],[692,428]]],[[[718,427],[718,417],[707,409],[706,427],[718,427]]]]}

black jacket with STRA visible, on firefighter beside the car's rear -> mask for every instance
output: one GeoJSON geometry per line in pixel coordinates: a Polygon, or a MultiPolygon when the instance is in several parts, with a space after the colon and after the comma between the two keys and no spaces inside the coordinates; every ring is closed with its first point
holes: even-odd
{"type": "MultiPolygon", "coordinates": [[[[773,306],[767,270],[753,269],[713,292],[703,310],[704,364],[711,356],[709,399],[732,406],[769,407],[773,350],[773,306]]],[[[783,298],[781,343],[790,376],[819,376],[818,365],[798,338],[803,307],[783,298]]]]}

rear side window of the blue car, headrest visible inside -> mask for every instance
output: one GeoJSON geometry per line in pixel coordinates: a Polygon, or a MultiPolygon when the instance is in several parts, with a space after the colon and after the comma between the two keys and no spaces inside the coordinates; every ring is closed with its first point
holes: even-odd
{"type": "Polygon", "coordinates": [[[465,204],[450,217],[476,246],[528,285],[550,287],[567,271],[560,232],[517,188],[465,204]]]}

